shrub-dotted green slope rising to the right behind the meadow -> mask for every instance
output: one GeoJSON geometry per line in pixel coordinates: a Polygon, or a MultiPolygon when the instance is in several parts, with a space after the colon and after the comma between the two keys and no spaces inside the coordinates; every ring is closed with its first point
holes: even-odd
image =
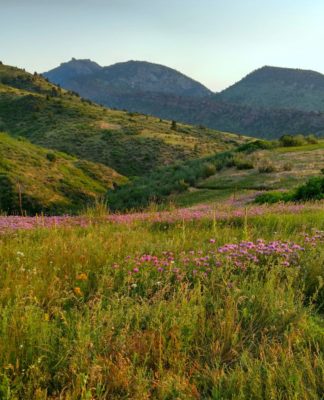
{"type": "Polygon", "coordinates": [[[256,141],[198,160],[161,168],[108,194],[112,209],[143,208],[151,201],[191,206],[288,190],[321,175],[324,141],[297,147],[256,141]]]}

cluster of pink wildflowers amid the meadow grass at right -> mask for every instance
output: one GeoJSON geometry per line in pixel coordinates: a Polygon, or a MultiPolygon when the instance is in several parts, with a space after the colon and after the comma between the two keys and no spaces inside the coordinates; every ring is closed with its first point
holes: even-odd
{"type": "MultiPolygon", "coordinates": [[[[182,251],[174,254],[171,251],[163,252],[161,255],[143,254],[125,259],[129,274],[137,275],[148,271],[171,273],[178,279],[184,276],[208,276],[215,268],[234,266],[240,270],[246,270],[250,265],[281,265],[283,267],[297,266],[299,254],[305,250],[304,247],[293,242],[280,240],[265,242],[258,239],[256,242],[242,241],[240,243],[229,243],[214,248],[215,239],[210,239],[205,250],[182,251]]],[[[114,264],[113,268],[116,268],[114,264]]]]}

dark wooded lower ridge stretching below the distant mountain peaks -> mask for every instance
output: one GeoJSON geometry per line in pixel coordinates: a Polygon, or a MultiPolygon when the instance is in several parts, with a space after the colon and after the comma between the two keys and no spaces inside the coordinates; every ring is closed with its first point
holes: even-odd
{"type": "Polygon", "coordinates": [[[224,103],[217,98],[184,98],[147,94],[123,99],[125,108],[137,102],[136,110],[150,110],[152,115],[172,118],[188,124],[203,124],[211,129],[277,139],[283,134],[317,134],[324,136],[324,113],[285,109],[265,109],[224,103]]]}

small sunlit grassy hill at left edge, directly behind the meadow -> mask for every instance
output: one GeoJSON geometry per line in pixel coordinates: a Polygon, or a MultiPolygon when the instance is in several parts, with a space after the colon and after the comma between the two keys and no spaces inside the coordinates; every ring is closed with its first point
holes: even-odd
{"type": "Polygon", "coordinates": [[[85,209],[126,178],[116,171],[0,133],[0,211],[62,213],[85,209]]]}

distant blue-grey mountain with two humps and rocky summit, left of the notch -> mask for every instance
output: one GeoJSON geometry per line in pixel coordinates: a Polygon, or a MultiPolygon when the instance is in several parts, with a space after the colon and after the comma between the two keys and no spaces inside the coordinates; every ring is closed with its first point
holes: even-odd
{"type": "MultiPolygon", "coordinates": [[[[140,97],[146,93],[184,97],[205,97],[212,94],[202,84],[174,69],[143,61],[100,67],[90,60],[72,59],[45,72],[43,76],[107,107],[122,108],[124,98],[130,96],[133,99],[134,95],[140,97]]],[[[136,106],[136,101],[133,106],[136,106]]]]}

